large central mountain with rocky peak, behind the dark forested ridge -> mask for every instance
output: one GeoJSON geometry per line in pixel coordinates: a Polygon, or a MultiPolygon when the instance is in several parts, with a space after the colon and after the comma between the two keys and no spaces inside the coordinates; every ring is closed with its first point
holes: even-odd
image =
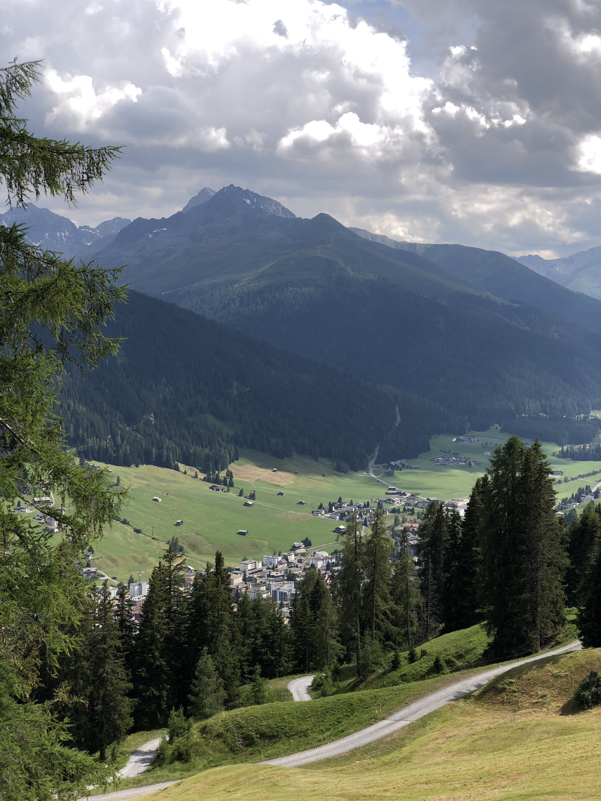
{"type": "Polygon", "coordinates": [[[135,219],[97,256],[127,263],[139,292],[387,385],[399,457],[418,418],[422,436],[527,415],[544,437],[540,413],[557,432],[564,415],[601,404],[601,303],[502,253],[301,219],[230,185],[135,219]]]}

